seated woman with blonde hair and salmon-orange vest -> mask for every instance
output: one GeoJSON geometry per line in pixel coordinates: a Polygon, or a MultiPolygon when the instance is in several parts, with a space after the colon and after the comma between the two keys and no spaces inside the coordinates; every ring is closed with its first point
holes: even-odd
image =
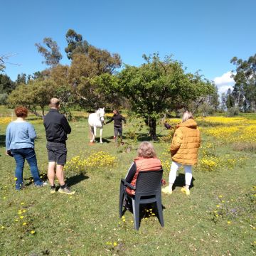
{"type": "MultiPolygon", "coordinates": [[[[130,166],[125,181],[131,183],[132,186],[136,186],[139,171],[160,171],[161,169],[161,161],[156,158],[154,146],[150,142],[142,142],[137,151],[137,158],[130,166]]],[[[130,196],[135,195],[132,188],[126,188],[126,191],[130,196]]]]}

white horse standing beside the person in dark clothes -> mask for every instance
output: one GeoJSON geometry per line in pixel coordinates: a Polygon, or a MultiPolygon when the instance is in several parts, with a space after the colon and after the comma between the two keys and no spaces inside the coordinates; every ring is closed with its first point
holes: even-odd
{"type": "Polygon", "coordinates": [[[102,143],[102,129],[104,124],[105,107],[98,109],[95,113],[89,114],[88,123],[90,127],[90,142],[95,142],[96,128],[100,128],[100,143],[102,143]]]}

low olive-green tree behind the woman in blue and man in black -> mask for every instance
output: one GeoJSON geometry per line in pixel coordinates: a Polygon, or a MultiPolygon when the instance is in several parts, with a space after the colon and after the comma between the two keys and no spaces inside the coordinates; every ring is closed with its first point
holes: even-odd
{"type": "Polygon", "coordinates": [[[56,84],[53,80],[31,80],[28,85],[18,85],[9,95],[7,102],[11,107],[23,105],[33,114],[42,117],[50,98],[55,95],[55,90],[56,84]],[[36,111],[37,106],[41,107],[42,114],[36,111]]]}

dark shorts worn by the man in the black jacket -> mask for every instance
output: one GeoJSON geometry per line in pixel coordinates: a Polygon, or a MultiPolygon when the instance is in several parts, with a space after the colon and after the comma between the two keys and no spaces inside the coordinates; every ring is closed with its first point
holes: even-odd
{"type": "Polygon", "coordinates": [[[56,164],[65,165],[67,161],[67,148],[65,143],[47,142],[48,161],[56,164]]]}

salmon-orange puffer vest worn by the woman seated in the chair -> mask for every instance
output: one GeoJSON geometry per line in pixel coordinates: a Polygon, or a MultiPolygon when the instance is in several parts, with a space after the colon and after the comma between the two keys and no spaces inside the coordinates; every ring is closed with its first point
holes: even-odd
{"type": "MultiPolygon", "coordinates": [[[[137,170],[131,181],[132,186],[136,186],[139,171],[160,171],[161,170],[161,161],[156,158],[144,159],[143,157],[138,157],[137,159],[134,159],[134,162],[136,164],[137,170]]],[[[135,191],[132,188],[127,188],[126,191],[130,196],[135,195],[135,191]]]]}

